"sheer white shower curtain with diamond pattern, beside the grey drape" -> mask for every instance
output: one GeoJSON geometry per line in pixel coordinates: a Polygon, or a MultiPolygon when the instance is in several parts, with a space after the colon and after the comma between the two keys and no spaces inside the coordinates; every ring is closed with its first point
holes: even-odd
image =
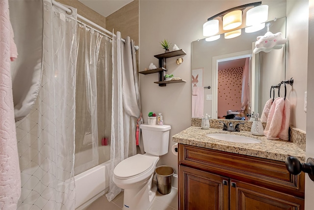
{"type": "Polygon", "coordinates": [[[76,9],[44,0],[43,75],[30,113],[16,123],[22,194],[18,210],[73,210],[76,9]]]}

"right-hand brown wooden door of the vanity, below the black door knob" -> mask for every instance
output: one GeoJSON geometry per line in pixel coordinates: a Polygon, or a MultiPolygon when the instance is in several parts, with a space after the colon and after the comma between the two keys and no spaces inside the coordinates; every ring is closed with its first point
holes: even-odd
{"type": "Polygon", "coordinates": [[[230,210],[304,210],[304,199],[230,180],[230,210]]]}

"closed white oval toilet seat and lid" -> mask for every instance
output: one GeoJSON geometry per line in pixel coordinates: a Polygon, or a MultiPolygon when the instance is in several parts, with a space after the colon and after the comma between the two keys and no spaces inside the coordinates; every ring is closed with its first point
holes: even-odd
{"type": "Polygon", "coordinates": [[[122,160],[113,170],[116,178],[126,180],[138,177],[153,167],[154,158],[135,154],[127,159],[122,160]]]}

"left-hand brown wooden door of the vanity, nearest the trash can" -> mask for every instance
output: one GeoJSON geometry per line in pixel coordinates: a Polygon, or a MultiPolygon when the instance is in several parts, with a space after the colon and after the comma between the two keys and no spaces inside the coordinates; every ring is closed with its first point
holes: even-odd
{"type": "Polygon", "coordinates": [[[229,179],[179,165],[179,210],[229,210],[229,179]]]}

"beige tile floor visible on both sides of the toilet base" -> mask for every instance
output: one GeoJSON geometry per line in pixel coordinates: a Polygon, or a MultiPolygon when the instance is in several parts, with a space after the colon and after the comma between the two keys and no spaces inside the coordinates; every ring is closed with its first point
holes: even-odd
{"type": "MultiPolygon", "coordinates": [[[[104,194],[84,210],[122,210],[122,208],[123,192],[111,202],[108,202],[104,194]]],[[[156,198],[149,210],[178,210],[178,189],[172,188],[167,195],[162,195],[157,191],[156,198]]]]}

